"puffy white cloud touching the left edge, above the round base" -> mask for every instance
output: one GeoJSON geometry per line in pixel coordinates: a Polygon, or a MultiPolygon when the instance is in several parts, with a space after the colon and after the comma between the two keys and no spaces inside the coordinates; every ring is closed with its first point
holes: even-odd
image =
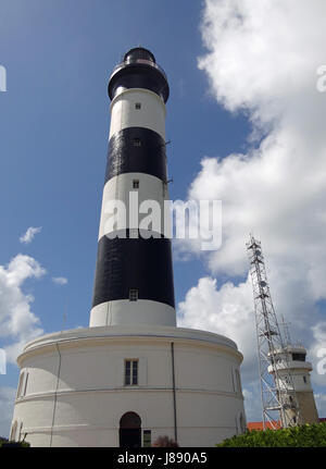
{"type": "Polygon", "coordinates": [[[30,310],[34,297],[22,287],[27,279],[40,279],[45,273],[37,260],[22,254],[0,266],[0,337],[8,343],[3,348],[9,362],[15,362],[26,342],[43,332],[30,310]]]}

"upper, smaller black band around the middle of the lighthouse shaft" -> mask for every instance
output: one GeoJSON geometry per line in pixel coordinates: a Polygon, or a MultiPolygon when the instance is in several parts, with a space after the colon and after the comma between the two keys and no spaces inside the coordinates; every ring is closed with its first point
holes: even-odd
{"type": "Polygon", "coordinates": [[[166,181],[165,141],[154,131],[128,127],[109,141],[105,183],[123,173],[146,173],[166,181]]]}

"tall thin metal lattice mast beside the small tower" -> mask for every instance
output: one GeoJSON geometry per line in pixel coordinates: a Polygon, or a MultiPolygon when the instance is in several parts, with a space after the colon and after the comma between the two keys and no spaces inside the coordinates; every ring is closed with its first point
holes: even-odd
{"type": "Polygon", "coordinates": [[[263,406],[263,425],[273,429],[300,423],[298,399],[289,372],[289,354],[285,346],[267,283],[261,243],[250,235],[247,243],[252,280],[259,354],[259,372],[263,406]]]}

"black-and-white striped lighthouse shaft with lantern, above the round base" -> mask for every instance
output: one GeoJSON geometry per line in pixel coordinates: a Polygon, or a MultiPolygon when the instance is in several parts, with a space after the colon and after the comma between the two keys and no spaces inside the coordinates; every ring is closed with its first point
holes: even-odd
{"type": "MultiPolygon", "coordinates": [[[[168,83],[154,55],[130,49],[109,82],[111,126],[103,188],[90,326],[176,325],[171,239],[154,226],[135,232],[127,217],[126,238],[108,226],[108,202],[129,211],[130,193],[139,206],[154,200],[164,213],[168,199],[165,156],[165,102],[168,83]]],[[[150,213],[150,210],[148,214],[150,213]]],[[[147,215],[139,214],[139,222],[147,215]]],[[[141,224],[140,224],[141,229],[141,224]]],[[[166,232],[165,232],[166,233],[166,232]]]]}

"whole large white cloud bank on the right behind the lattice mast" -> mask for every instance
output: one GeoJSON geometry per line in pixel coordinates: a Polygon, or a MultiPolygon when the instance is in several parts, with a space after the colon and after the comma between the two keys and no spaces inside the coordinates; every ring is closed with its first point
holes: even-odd
{"type": "Polygon", "coordinates": [[[314,367],[313,345],[325,341],[316,335],[325,320],[317,303],[326,299],[326,94],[316,89],[325,14],[323,0],[206,0],[203,11],[199,67],[211,96],[244,113],[252,134],[243,153],[203,158],[189,188],[189,199],[223,202],[223,244],[206,262],[213,276],[231,282],[201,279],[179,306],[180,321],[235,338],[248,380],[250,363],[256,368],[249,349],[250,232],[263,243],[276,311],[289,320],[292,338],[304,338],[314,367]]]}

